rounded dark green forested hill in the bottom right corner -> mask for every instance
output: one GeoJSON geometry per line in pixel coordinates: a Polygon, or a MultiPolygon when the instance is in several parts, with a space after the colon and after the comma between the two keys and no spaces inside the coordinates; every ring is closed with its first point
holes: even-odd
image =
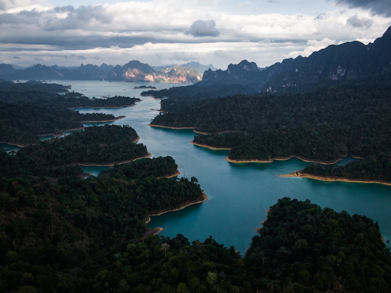
{"type": "Polygon", "coordinates": [[[283,198],[259,233],[245,262],[262,292],[390,291],[391,253],[365,216],[283,198]]]}

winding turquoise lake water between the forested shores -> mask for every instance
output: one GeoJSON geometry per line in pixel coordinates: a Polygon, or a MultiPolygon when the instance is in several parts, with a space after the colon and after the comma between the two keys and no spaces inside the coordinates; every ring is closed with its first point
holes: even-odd
{"type": "MultiPolygon", "coordinates": [[[[141,85],[99,81],[58,81],[71,84],[76,92],[88,97],[124,95],[140,97],[141,85]]],[[[158,89],[178,84],[146,84],[158,89]]],[[[150,127],[157,114],[159,100],[140,97],[135,106],[120,109],[78,109],[82,113],[104,112],[126,118],[110,124],[130,125],[140,136],[153,157],[172,156],[179,165],[180,176],[195,176],[208,200],[183,210],[152,217],[149,227],[162,227],[161,232],[174,237],[181,233],[190,241],[204,241],[212,235],[225,246],[234,246],[242,254],[256,235],[256,228],[266,218],[266,209],[279,198],[309,199],[322,208],[349,214],[361,214],[378,221],[385,241],[391,238],[391,187],[378,184],[322,182],[306,178],[278,177],[302,169],[308,163],[292,158],[269,164],[232,164],[225,160],[228,151],[210,150],[190,144],[192,130],[150,127]]],[[[86,126],[88,126],[86,124],[86,126]]],[[[344,158],[344,163],[352,160],[344,158]]],[[[92,171],[92,167],[88,167],[92,171]]],[[[99,172],[99,170],[97,170],[99,172]]],[[[389,244],[387,245],[389,246],[389,244]]]]}

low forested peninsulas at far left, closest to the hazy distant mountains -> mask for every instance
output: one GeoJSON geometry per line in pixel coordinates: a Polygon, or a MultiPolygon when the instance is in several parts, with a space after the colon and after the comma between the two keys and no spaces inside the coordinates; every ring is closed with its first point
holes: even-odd
{"type": "Polygon", "coordinates": [[[83,122],[109,122],[123,117],[70,110],[77,107],[132,106],[140,99],[115,96],[89,99],[68,92],[69,86],[41,82],[0,83],[0,142],[30,144],[40,135],[59,135],[64,130],[83,128],[83,122]],[[59,92],[65,92],[60,94],[59,92]]]}

